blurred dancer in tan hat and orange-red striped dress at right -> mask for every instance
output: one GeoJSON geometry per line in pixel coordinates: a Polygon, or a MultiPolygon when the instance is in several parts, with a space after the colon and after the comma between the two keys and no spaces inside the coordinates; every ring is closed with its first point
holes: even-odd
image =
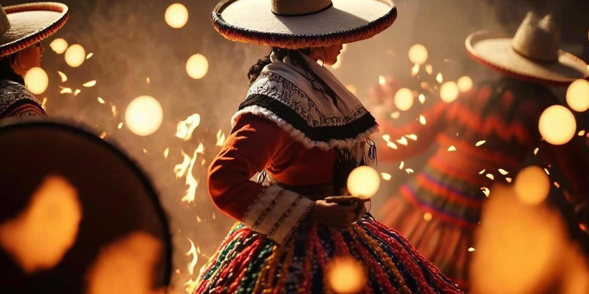
{"type": "Polygon", "coordinates": [[[580,142],[551,145],[542,142],[538,130],[544,109],[559,103],[546,85],[568,85],[589,75],[587,65],[559,51],[559,44],[551,16],[528,14],[514,38],[475,32],[466,39],[469,54],[505,77],[482,83],[453,102],[441,93],[445,102],[426,110],[421,123],[381,128],[391,139],[408,134],[417,139],[380,152],[380,161],[399,161],[438,145],[425,168],[379,214],[462,289],[469,287],[469,248],[488,188],[493,180],[511,182],[535,148],[540,147],[538,156],[564,171],[569,200],[581,219],[587,218],[589,166],[581,158],[580,142]]]}

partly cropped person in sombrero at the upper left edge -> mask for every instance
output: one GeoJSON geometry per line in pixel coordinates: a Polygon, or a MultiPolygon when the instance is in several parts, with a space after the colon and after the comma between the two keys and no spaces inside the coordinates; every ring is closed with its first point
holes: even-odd
{"type": "Polygon", "coordinates": [[[47,115],[25,87],[24,76],[41,66],[41,41],[55,34],[68,16],[68,7],[55,2],[0,6],[0,119],[47,115]]]}

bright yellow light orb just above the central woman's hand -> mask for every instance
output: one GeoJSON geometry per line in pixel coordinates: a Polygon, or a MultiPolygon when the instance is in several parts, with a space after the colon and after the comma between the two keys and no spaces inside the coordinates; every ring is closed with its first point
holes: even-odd
{"type": "Polygon", "coordinates": [[[358,198],[368,199],[380,186],[380,175],[370,166],[358,166],[348,176],[348,192],[358,198]]]}

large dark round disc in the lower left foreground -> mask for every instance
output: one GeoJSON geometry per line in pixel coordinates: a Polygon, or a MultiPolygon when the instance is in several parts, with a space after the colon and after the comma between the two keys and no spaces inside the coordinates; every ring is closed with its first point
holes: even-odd
{"type": "MultiPolygon", "coordinates": [[[[8,118],[0,122],[0,150],[6,155],[0,165],[0,223],[15,218],[27,207],[32,192],[49,175],[66,179],[77,191],[82,220],[75,242],[61,261],[42,277],[68,276],[68,283],[47,279],[58,293],[81,293],[78,281],[94,263],[102,248],[132,232],[141,231],[161,242],[153,272],[154,286],[168,286],[171,276],[171,235],[166,213],[144,172],[121,149],[69,123],[49,118],[8,118]]],[[[51,242],[51,240],[48,240],[51,242]]],[[[2,259],[0,266],[14,268],[2,259]]],[[[0,275],[0,285],[38,287],[39,276],[0,275]],[[38,280],[37,280],[38,281],[38,280]]],[[[39,279],[41,279],[39,278],[39,279]]],[[[2,287],[0,287],[2,288],[2,287]]],[[[24,292],[34,292],[25,290],[24,292]]]]}

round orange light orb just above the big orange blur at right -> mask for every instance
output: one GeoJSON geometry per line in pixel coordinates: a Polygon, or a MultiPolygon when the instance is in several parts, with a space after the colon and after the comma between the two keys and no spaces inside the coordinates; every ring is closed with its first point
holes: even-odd
{"type": "Polygon", "coordinates": [[[519,201],[529,204],[540,204],[550,192],[550,179],[544,169],[528,166],[522,169],[515,178],[515,195],[519,201]]]}

